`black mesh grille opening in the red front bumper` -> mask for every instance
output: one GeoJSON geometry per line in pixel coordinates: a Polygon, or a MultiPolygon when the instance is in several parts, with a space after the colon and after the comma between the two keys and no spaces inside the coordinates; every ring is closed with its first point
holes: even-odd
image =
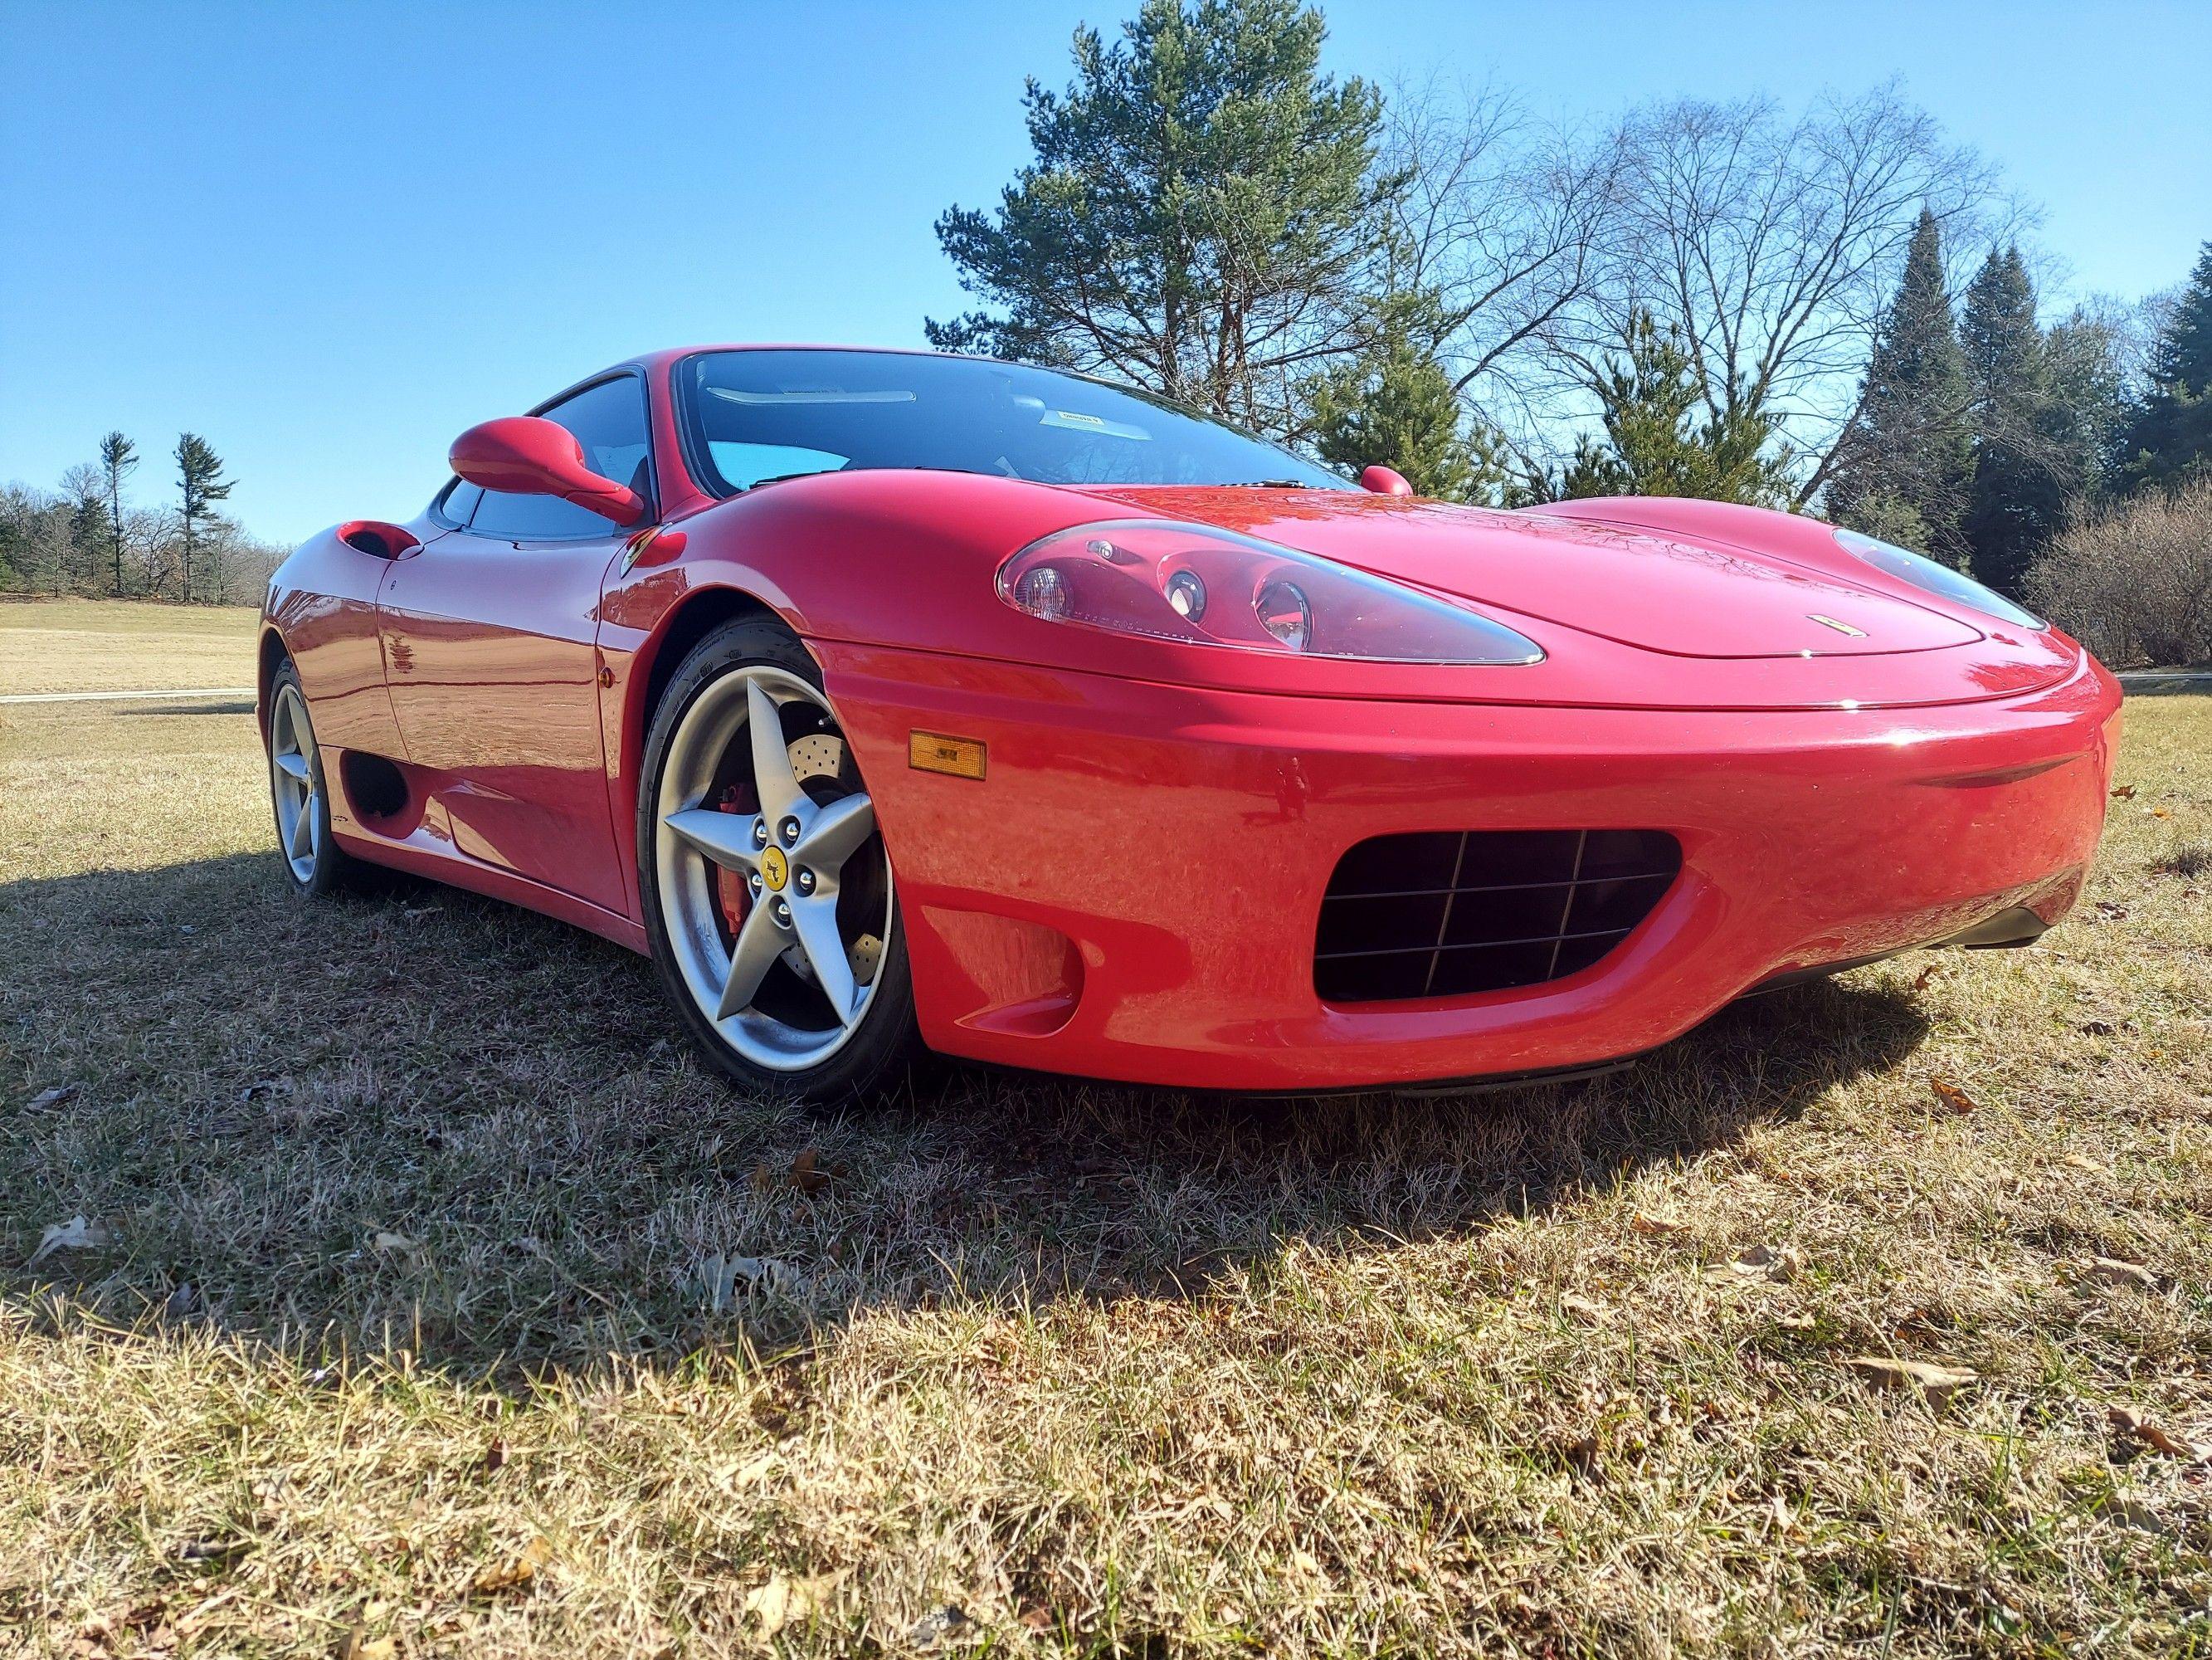
{"type": "Polygon", "coordinates": [[[1659,830],[1436,830],[1374,837],[1321,901],[1314,989],[1329,1003],[1504,992],[1579,974],[1681,872],[1659,830]]]}

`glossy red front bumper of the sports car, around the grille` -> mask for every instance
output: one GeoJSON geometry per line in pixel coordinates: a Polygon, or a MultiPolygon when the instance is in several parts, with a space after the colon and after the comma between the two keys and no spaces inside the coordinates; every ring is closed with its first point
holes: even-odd
{"type": "MultiPolygon", "coordinates": [[[[1365,1089],[1652,1049],[1778,976],[2073,905],[2119,688],[1686,713],[1190,691],[814,642],[898,872],[925,1040],[1188,1089],[1365,1089]],[[982,781],[909,739],[987,744],[982,781]],[[1416,830],[1666,830],[1683,870],[1601,963],[1323,1003],[1338,857],[1416,830]]],[[[1500,671],[1509,673],[1509,671],[1500,671]]]]}

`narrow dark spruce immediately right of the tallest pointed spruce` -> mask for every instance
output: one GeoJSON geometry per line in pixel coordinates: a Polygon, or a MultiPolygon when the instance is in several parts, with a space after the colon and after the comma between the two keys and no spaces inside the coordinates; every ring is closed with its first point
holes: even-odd
{"type": "Polygon", "coordinates": [[[1962,522],[1971,567],[2000,593],[2020,593],[2068,500],[2035,286],[2020,248],[1982,261],[1966,288],[1960,347],[1973,396],[1973,483],[1962,522]]]}

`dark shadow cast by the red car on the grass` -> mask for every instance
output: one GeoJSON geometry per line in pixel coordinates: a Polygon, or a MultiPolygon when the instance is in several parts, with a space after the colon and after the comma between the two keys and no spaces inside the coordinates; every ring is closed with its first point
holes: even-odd
{"type": "Polygon", "coordinates": [[[268,854],[20,881],[0,956],[0,1251],[108,1231],[11,1266],[7,1301],[513,1379],[1464,1235],[1723,1149],[1924,1034],[1829,983],[1577,1087],[1237,1100],[953,1067],[823,1113],[708,1073],[641,958],[431,885],[299,903],[268,854]]]}

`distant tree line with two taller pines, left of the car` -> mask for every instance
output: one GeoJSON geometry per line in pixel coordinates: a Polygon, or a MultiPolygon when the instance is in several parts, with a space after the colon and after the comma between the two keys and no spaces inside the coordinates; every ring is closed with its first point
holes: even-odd
{"type": "Polygon", "coordinates": [[[288,549],[219,511],[237,480],[197,432],[177,436],[170,494],[133,502],[139,449],[122,432],[58,491],[0,485],[0,589],[111,600],[239,604],[257,600],[288,549]]]}

